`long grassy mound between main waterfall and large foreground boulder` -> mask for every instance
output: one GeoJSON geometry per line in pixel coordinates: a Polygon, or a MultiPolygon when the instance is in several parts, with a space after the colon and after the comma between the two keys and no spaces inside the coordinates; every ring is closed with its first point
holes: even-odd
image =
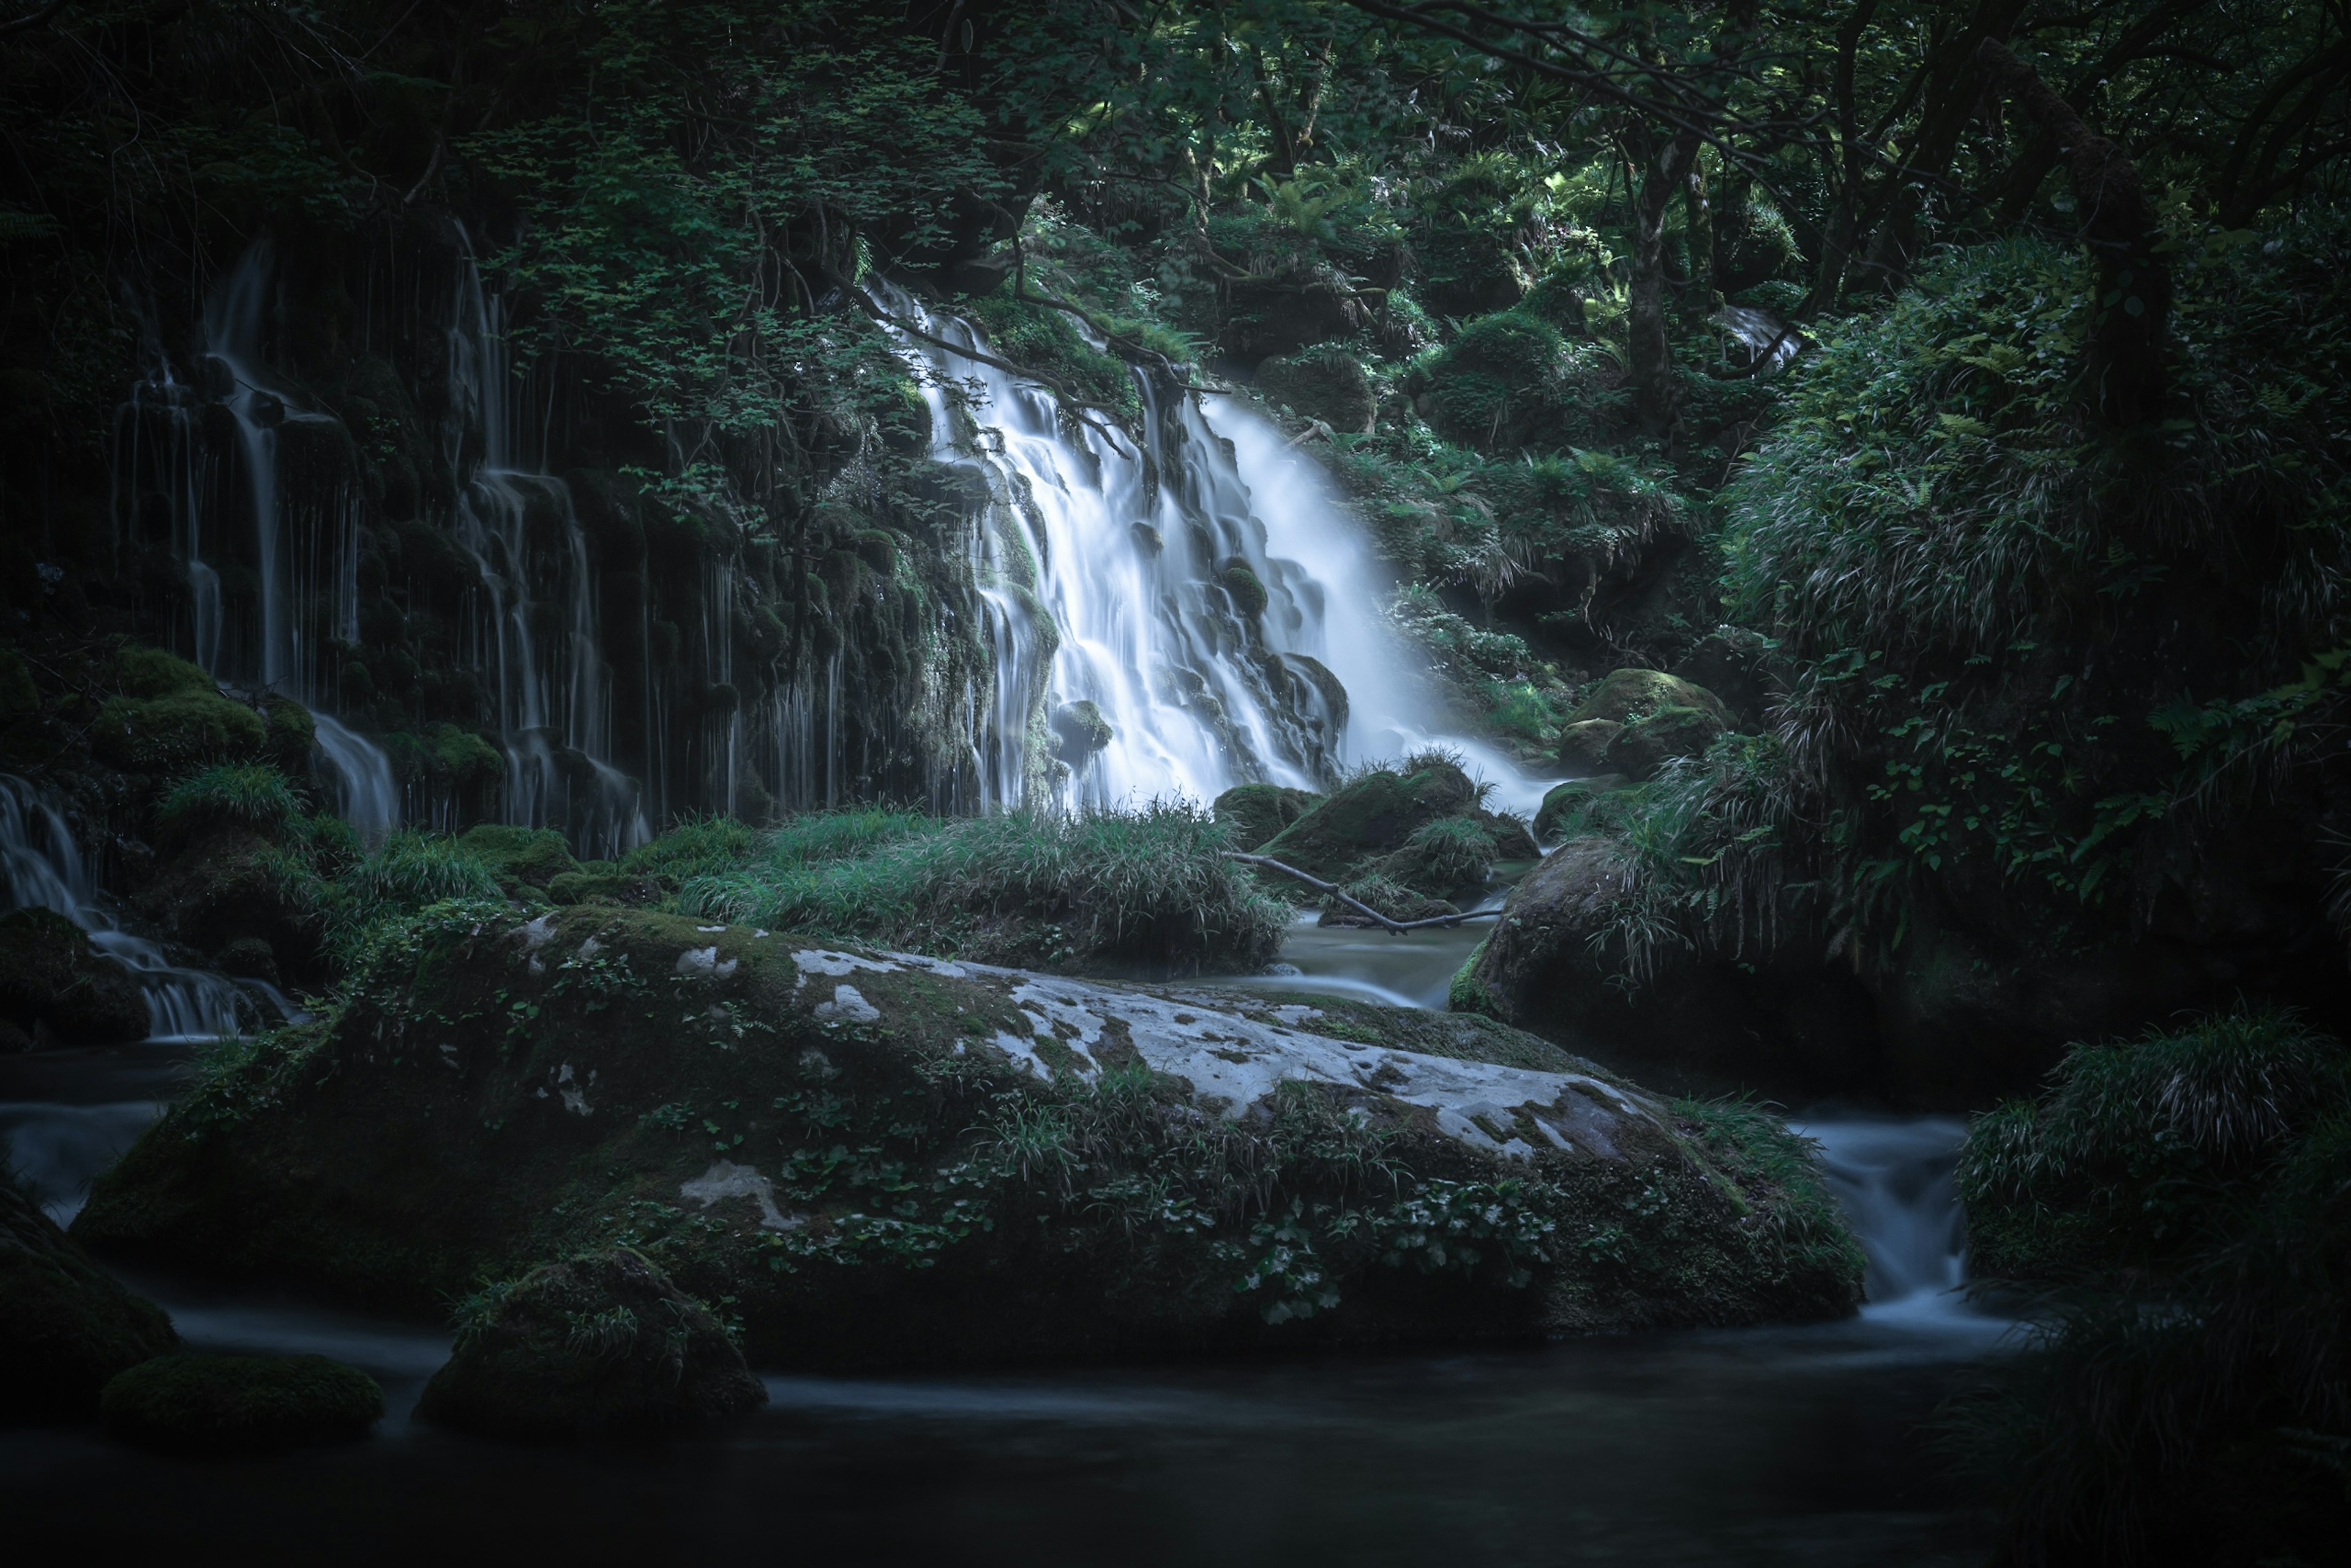
{"type": "Polygon", "coordinates": [[[1255,966],[1281,905],[1223,858],[1192,806],[938,820],[860,811],[802,818],[766,853],[691,877],[698,914],[1056,966],[1197,973],[1255,966]]]}

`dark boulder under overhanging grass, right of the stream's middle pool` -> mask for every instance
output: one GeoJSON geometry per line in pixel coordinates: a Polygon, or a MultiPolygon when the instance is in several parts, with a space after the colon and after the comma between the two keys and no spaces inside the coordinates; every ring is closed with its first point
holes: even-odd
{"type": "Polygon", "coordinates": [[[1686,1093],[1881,1086],[1874,999],[1850,966],[1794,931],[1695,952],[1679,910],[1646,905],[1634,853],[1582,835],[1547,856],[1512,889],[1453,1004],[1686,1093]]]}

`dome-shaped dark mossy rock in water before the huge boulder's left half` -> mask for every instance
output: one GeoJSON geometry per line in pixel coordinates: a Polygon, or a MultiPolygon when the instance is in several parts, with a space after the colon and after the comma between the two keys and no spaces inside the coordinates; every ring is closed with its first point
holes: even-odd
{"type": "Polygon", "coordinates": [[[477,1291],[416,1413],[522,1439],[644,1436],[766,1403],[710,1307],[607,1246],[477,1291]]]}

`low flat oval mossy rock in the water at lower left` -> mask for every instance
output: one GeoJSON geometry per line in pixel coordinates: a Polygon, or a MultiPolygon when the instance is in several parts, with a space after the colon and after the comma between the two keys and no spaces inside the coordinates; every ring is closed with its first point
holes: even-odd
{"type": "Polygon", "coordinates": [[[108,1436],[165,1453],[266,1453],[367,1436],[383,1389],[329,1356],[155,1356],[99,1394],[108,1436]]]}

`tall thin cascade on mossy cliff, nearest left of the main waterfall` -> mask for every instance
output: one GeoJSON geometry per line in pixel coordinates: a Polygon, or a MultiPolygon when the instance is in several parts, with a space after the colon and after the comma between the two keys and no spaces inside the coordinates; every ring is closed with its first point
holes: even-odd
{"type": "Polygon", "coordinates": [[[498,818],[562,827],[574,846],[616,856],[651,830],[637,783],[611,764],[588,534],[571,487],[517,463],[508,386],[501,306],[468,247],[449,317],[442,444],[458,475],[456,538],[480,574],[473,668],[494,693],[505,752],[498,818]]]}

